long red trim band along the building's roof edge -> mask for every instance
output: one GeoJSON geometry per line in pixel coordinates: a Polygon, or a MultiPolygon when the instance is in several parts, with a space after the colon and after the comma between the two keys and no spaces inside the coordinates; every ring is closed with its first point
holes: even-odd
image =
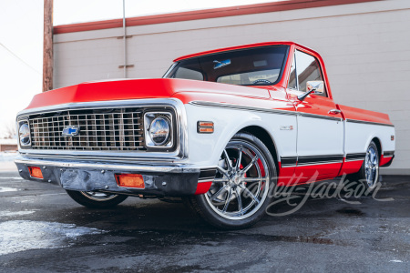
{"type": "MultiPolygon", "coordinates": [[[[190,20],[219,18],[235,15],[254,15],[277,11],[287,11],[294,9],[320,7],[329,5],[345,5],[383,0],[288,0],[283,2],[263,3],[255,5],[237,5],[197,11],[181,12],[165,15],[149,15],[127,18],[127,26],[154,25],[172,22],[183,22],[190,20]]],[[[88,22],[72,25],[56,25],[54,34],[81,32],[88,30],[108,29],[122,27],[122,19],[88,22]]]]}

